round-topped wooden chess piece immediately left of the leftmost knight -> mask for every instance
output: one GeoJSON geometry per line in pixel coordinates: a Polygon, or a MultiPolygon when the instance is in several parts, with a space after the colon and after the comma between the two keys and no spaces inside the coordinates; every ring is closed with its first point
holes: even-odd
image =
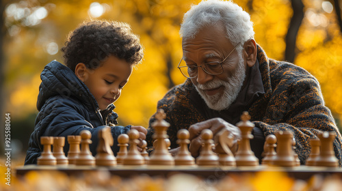
{"type": "Polygon", "coordinates": [[[79,156],[77,157],[75,164],[94,166],[95,158],[92,156],[92,152],[89,149],[89,145],[92,144],[92,141],[90,140],[90,138],[92,138],[92,133],[88,130],[82,130],[80,134],[81,151],[79,152],[79,156]]]}

